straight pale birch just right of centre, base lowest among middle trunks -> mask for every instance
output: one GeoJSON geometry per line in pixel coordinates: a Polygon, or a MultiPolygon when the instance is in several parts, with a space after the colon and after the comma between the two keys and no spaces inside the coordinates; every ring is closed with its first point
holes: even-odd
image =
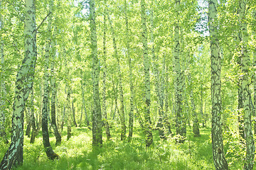
{"type": "Polygon", "coordinates": [[[144,64],[144,90],[146,106],[144,110],[145,132],[146,132],[146,147],[149,147],[153,142],[151,118],[150,118],[150,77],[149,77],[149,55],[147,45],[147,30],[146,30],[146,4],[141,0],[142,9],[142,45],[143,45],[143,64],[144,64]]]}

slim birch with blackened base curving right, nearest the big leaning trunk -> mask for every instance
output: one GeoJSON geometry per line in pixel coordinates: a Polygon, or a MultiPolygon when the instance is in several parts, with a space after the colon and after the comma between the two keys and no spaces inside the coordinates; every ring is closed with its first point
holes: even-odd
{"type": "Polygon", "coordinates": [[[49,132],[48,132],[48,115],[49,115],[49,94],[50,94],[50,87],[49,87],[49,57],[50,57],[50,43],[51,43],[51,23],[52,23],[52,16],[53,16],[53,0],[50,1],[49,6],[49,18],[48,18],[48,41],[46,42],[46,57],[45,57],[45,64],[44,64],[44,83],[43,83],[43,109],[42,109],[42,133],[43,133],[43,146],[46,151],[46,155],[48,159],[58,159],[58,154],[53,152],[53,148],[50,146],[49,140],[49,132]]]}

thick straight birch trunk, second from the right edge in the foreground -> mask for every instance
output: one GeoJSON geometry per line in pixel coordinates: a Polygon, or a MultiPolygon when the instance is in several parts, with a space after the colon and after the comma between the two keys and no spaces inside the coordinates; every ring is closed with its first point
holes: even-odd
{"type": "Polygon", "coordinates": [[[220,122],[221,108],[221,64],[220,49],[218,40],[218,23],[217,23],[217,0],[208,2],[208,23],[210,30],[210,62],[211,62],[211,101],[212,101],[212,147],[213,162],[215,169],[228,169],[228,163],[225,159],[223,150],[223,133],[220,122]]]}

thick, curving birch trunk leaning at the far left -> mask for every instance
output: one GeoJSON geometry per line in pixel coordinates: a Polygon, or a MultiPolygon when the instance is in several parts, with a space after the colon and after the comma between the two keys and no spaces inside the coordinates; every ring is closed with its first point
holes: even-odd
{"type": "Polygon", "coordinates": [[[36,67],[36,8],[33,0],[25,1],[25,57],[18,69],[15,83],[13,115],[11,120],[11,145],[4,154],[0,169],[11,169],[23,164],[23,112],[33,86],[36,67]]]}

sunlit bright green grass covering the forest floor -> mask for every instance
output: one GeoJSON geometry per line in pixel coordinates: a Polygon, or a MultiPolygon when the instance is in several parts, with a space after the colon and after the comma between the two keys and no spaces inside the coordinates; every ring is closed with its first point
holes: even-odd
{"type": "MultiPolygon", "coordinates": [[[[31,145],[24,138],[24,162],[18,169],[55,170],[55,169],[215,169],[211,150],[210,128],[201,129],[201,137],[193,137],[192,128],[187,129],[183,144],[176,143],[174,137],[160,140],[154,130],[154,144],[147,148],[144,133],[139,127],[134,129],[132,142],[121,142],[119,130],[112,130],[112,140],[106,141],[103,133],[103,147],[92,152],[92,131],[86,127],[73,128],[72,137],[67,139],[64,128],[60,146],[55,147],[55,137],[50,133],[50,143],[60,159],[51,161],[43,149],[42,135],[31,145]],[[117,136],[118,135],[118,136],[117,136]]],[[[0,159],[8,145],[0,144],[0,159]]],[[[230,169],[242,169],[240,163],[230,169]],[[238,168],[238,166],[240,168],[238,168]]]]}

